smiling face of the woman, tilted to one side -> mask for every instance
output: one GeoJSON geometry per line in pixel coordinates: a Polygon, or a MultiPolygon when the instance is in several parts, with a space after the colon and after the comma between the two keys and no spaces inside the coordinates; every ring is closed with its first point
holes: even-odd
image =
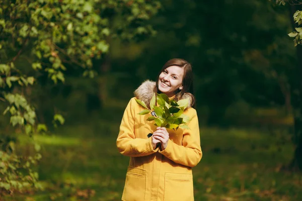
{"type": "Polygon", "coordinates": [[[182,80],[184,77],[184,68],[179,66],[169,66],[159,77],[159,90],[172,97],[177,89],[182,89],[182,80]]]}

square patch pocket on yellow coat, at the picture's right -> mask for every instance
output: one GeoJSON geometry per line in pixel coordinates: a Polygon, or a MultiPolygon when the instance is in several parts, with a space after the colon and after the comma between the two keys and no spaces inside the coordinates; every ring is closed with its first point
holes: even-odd
{"type": "Polygon", "coordinates": [[[164,200],[193,201],[194,194],[192,174],[166,172],[164,200]]]}

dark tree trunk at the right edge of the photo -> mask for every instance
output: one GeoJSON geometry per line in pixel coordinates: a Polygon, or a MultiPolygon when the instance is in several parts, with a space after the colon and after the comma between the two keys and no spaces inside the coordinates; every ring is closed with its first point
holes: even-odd
{"type": "MultiPolygon", "coordinates": [[[[290,21],[292,28],[297,26],[293,21],[293,14],[300,10],[300,5],[290,5],[290,21]]],[[[302,170],[302,45],[297,45],[297,94],[292,94],[292,105],[294,111],[294,143],[296,144],[294,157],[291,161],[291,168],[302,170]]]]}

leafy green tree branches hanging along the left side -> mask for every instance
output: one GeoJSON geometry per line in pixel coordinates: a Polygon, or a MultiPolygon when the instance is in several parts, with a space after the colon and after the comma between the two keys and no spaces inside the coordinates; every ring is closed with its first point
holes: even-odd
{"type": "MultiPolygon", "coordinates": [[[[141,0],[0,1],[0,100],[7,104],[3,114],[10,116],[12,126],[21,128],[28,136],[47,132],[45,124],[37,123],[31,97],[33,88],[41,84],[39,76],[46,74],[54,84],[64,83],[64,73],[69,68],[70,72],[80,71],[93,78],[93,60],[101,59],[109,51],[112,38],[129,41],[155,34],[145,22],[159,8],[157,1],[141,0]],[[120,24],[115,26],[115,21],[120,24]],[[22,57],[30,68],[20,62],[22,57]]],[[[54,115],[54,127],[64,122],[61,115],[54,115]]],[[[40,145],[34,144],[39,151],[40,145]]],[[[37,181],[37,173],[31,166],[24,166],[22,156],[0,153],[8,158],[5,164],[0,161],[1,165],[11,167],[5,170],[11,176],[0,181],[1,188],[11,193],[18,188],[21,192],[20,186],[25,184],[19,184],[16,178],[37,181]],[[28,174],[18,173],[21,166],[28,174]]]]}

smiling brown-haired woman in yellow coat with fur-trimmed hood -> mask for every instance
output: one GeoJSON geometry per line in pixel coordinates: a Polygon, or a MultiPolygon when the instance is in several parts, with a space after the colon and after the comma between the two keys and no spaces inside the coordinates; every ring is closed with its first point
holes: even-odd
{"type": "Polygon", "coordinates": [[[116,141],[119,152],[130,156],[122,200],[194,200],[192,167],[199,163],[202,152],[191,65],[183,59],[169,60],[157,82],[143,82],[134,95],[124,112],[116,141]],[[183,114],[190,117],[190,129],[167,131],[146,121],[147,115],[138,115],[143,108],[134,98],[149,106],[154,92],[165,93],[176,101],[189,98],[183,114]],[[149,133],[153,133],[150,138],[149,133]]]}

